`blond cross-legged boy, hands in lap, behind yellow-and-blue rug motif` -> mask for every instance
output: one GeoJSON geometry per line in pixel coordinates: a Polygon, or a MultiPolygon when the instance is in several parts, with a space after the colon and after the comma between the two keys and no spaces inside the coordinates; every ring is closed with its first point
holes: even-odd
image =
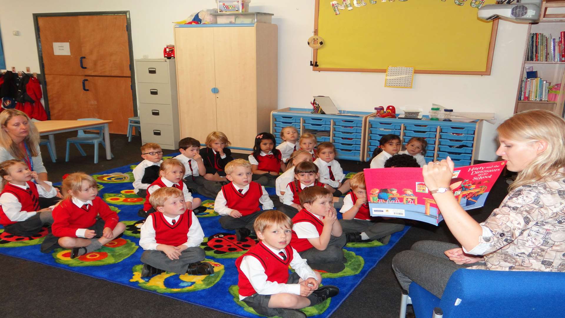
{"type": "Polygon", "coordinates": [[[184,195],[177,188],[163,187],[149,197],[155,212],[141,226],[140,246],[144,263],[141,277],[164,271],[190,275],[214,274],[210,263],[202,262],[206,253],[200,248],[202,227],[192,210],[186,208],[184,195]]]}

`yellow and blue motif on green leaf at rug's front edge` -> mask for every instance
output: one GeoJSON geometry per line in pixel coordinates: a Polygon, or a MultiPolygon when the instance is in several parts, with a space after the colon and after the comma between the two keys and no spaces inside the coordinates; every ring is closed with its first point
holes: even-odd
{"type": "Polygon", "coordinates": [[[217,283],[224,275],[224,265],[215,261],[205,259],[207,263],[214,267],[214,274],[211,275],[189,275],[164,272],[151,277],[141,277],[143,265],[135,265],[132,268],[133,277],[130,282],[137,282],[138,286],[157,293],[186,293],[208,289],[217,283]]]}

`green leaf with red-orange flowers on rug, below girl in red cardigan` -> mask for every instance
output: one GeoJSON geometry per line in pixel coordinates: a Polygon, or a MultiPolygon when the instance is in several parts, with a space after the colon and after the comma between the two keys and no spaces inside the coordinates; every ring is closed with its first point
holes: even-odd
{"type": "Polygon", "coordinates": [[[56,248],[53,258],[59,264],[68,266],[100,266],[116,264],[131,256],[138,246],[129,239],[111,240],[98,250],[71,259],[71,250],[56,248]]]}

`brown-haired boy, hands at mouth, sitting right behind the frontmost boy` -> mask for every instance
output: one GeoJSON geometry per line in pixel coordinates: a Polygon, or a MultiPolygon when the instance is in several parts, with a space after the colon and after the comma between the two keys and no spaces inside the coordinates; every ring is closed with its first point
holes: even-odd
{"type": "Polygon", "coordinates": [[[346,262],[341,248],[346,239],[333,208],[332,192],[323,187],[307,187],[299,197],[304,208],[292,218],[290,244],[308,260],[310,267],[341,272],[346,262]]]}

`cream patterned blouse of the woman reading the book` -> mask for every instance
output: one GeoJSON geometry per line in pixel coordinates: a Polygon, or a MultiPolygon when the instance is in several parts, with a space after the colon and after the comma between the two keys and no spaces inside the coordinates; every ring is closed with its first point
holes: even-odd
{"type": "Polygon", "coordinates": [[[565,179],[516,188],[481,227],[470,268],[565,272],[565,179]]]}

